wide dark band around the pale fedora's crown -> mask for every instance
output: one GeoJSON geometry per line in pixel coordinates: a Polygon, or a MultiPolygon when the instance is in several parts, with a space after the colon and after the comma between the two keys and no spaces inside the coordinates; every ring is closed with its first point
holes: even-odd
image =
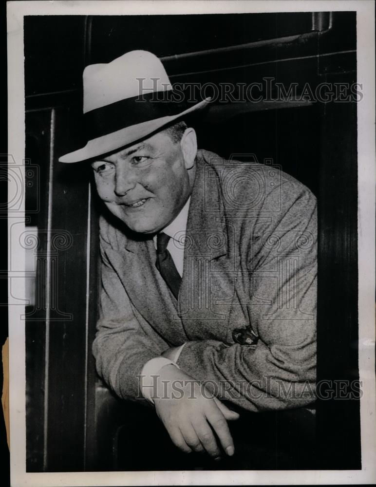
{"type": "Polygon", "coordinates": [[[93,140],[132,125],[184,112],[188,105],[181,98],[181,93],[175,94],[172,90],[151,92],[86,112],[87,139],[93,140]]]}

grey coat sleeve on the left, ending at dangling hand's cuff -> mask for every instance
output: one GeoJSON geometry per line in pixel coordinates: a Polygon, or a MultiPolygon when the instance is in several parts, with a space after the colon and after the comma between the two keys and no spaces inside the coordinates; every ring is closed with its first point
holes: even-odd
{"type": "MultiPolygon", "coordinates": [[[[145,363],[160,356],[168,345],[137,311],[106,255],[110,244],[100,234],[101,292],[99,319],[93,342],[98,374],[122,398],[140,398],[140,377],[145,363]]],[[[124,262],[126,265],[126,262],[124,262]]]]}

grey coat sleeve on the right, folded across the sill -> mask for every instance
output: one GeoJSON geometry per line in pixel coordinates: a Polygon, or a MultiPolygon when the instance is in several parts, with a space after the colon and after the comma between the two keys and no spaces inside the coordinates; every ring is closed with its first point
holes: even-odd
{"type": "MultiPolygon", "coordinates": [[[[250,411],[306,406],[315,400],[317,213],[305,188],[274,225],[249,242],[247,312],[255,345],[187,342],[178,365],[217,397],[250,411]]],[[[244,278],[244,276],[243,276],[244,278]]],[[[231,323],[233,328],[236,323],[231,323]]]]}

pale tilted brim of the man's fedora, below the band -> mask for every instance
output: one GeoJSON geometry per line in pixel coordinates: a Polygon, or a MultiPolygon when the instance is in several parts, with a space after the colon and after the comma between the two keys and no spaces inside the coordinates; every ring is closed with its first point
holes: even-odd
{"type": "Polygon", "coordinates": [[[59,162],[73,163],[82,162],[88,159],[93,159],[94,157],[106,154],[120,147],[124,147],[136,142],[139,139],[146,137],[147,135],[157,131],[164,125],[168,125],[175,119],[180,118],[188,113],[200,110],[207,106],[210,98],[206,98],[200,101],[196,105],[189,107],[183,112],[177,113],[176,115],[165,116],[161,118],[156,118],[155,120],[149,120],[147,122],[138,123],[136,125],[131,125],[124,129],[118,130],[116,132],[108,133],[90,140],[85,147],[69,152],[61,157],[59,157],[59,162]]]}

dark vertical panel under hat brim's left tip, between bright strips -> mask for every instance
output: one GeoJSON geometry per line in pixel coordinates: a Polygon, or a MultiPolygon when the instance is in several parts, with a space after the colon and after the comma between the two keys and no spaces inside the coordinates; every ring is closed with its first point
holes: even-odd
{"type": "Polygon", "coordinates": [[[87,166],[57,158],[74,137],[75,116],[56,110],[48,326],[47,471],[84,468],[87,361],[87,166]],[[55,303],[55,304],[54,304],[55,303]]]}

